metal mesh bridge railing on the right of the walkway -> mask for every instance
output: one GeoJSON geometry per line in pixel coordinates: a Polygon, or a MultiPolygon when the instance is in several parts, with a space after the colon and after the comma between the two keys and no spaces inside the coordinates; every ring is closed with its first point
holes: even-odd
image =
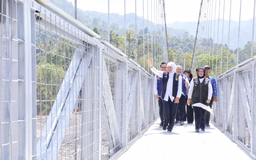
{"type": "Polygon", "coordinates": [[[256,60],[231,68],[217,78],[218,102],[211,121],[256,158],[256,60]]]}

